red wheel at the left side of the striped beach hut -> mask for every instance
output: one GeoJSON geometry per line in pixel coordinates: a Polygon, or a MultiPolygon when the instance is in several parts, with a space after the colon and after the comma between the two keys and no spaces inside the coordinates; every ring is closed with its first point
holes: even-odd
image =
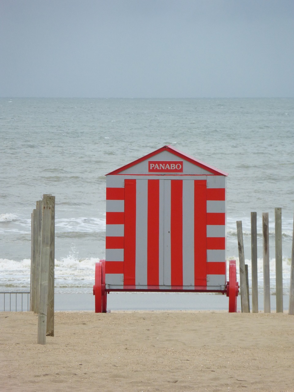
{"type": "Polygon", "coordinates": [[[105,260],[100,260],[95,266],[95,313],[106,313],[107,293],[105,291],[105,260]]]}

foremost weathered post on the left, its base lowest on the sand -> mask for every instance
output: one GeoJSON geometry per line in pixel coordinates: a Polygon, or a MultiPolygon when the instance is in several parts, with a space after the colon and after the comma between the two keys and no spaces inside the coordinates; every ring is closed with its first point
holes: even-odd
{"type": "Polygon", "coordinates": [[[51,206],[42,207],[42,245],[40,263],[40,301],[38,312],[38,340],[40,344],[46,343],[48,279],[50,258],[50,229],[51,206]]]}

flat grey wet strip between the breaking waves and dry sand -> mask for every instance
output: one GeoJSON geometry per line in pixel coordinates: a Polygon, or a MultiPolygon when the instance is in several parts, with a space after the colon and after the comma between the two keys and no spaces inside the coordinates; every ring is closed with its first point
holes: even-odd
{"type": "MultiPolygon", "coordinates": [[[[252,310],[252,296],[250,309],[252,310]]],[[[4,310],[4,296],[0,295],[0,311],[4,310]]],[[[9,310],[9,295],[5,294],[5,311],[9,310]]],[[[55,293],[54,311],[94,312],[94,296],[90,293],[55,293]]],[[[289,309],[289,295],[283,296],[284,312],[289,309]]],[[[276,296],[270,296],[270,308],[276,312],[276,296]]],[[[27,296],[23,298],[27,310],[27,296]]],[[[158,292],[111,292],[107,295],[107,310],[112,311],[228,311],[229,298],[214,293],[158,293],[158,292]]],[[[258,309],[263,312],[263,295],[258,296],[258,309]]],[[[15,294],[11,294],[11,310],[15,311],[15,294]]],[[[21,296],[17,296],[17,310],[21,310],[21,296]]],[[[237,312],[241,311],[241,296],[237,297],[237,312]]]]}

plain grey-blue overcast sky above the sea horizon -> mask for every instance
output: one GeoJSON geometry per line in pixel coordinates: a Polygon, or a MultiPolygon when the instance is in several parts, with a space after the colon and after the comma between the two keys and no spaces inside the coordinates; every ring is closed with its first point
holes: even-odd
{"type": "Polygon", "coordinates": [[[294,0],[0,0],[0,96],[293,97],[294,0]]]}

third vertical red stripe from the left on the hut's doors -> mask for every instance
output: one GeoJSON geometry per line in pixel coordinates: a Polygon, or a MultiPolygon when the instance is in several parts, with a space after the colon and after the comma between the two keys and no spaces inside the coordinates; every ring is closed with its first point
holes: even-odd
{"type": "Polygon", "coordinates": [[[182,180],[171,180],[171,285],[183,286],[182,180]]]}

